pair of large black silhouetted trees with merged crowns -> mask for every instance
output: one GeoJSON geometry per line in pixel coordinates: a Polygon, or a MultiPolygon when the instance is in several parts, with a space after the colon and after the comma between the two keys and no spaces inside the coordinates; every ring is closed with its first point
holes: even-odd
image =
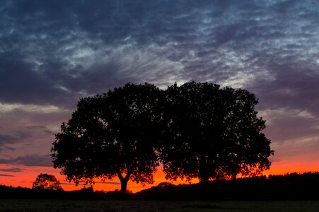
{"type": "Polygon", "coordinates": [[[166,179],[202,184],[260,175],[274,151],[257,102],[213,83],[127,83],[79,100],[52,143],[54,167],[76,184],[118,177],[123,193],[129,180],[152,183],[160,164],[166,179]]]}

